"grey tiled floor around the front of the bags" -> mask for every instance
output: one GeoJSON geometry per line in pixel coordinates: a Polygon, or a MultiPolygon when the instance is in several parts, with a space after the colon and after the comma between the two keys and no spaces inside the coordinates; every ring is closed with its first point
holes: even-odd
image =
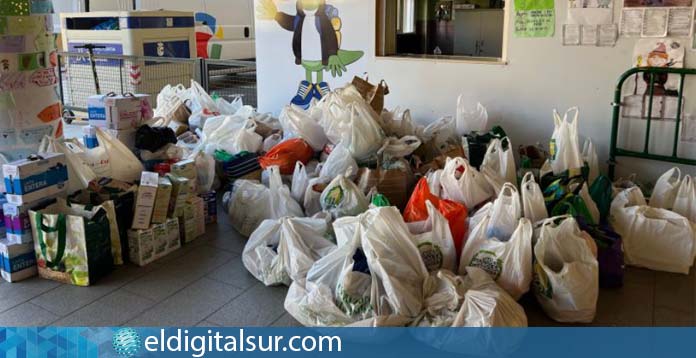
{"type": "MultiPolygon", "coordinates": [[[[92,287],[33,278],[0,280],[0,326],[292,326],[286,288],[267,288],[241,262],[245,241],[224,216],[208,233],[148,267],[125,266],[92,287]]],[[[628,268],[626,285],[601,290],[599,326],[696,324],[696,275],[628,268]]],[[[555,326],[531,296],[532,326],[555,326]]]]}

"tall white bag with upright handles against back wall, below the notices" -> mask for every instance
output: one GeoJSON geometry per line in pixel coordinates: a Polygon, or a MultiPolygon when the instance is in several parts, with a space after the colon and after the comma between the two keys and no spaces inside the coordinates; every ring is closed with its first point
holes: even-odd
{"type": "Polygon", "coordinates": [[[556,175],[569,169],[580,170],[584,166],[578,139],[579,116],[580,110],[577,107],[569,109],[563,119],[557,111],[553,111],[556,128],[551,136],[549,152],[551,154],[551,167],[556,175]],[[573,111],[575,111],[575,117],[569,122],[568,116],[573,111]]]}

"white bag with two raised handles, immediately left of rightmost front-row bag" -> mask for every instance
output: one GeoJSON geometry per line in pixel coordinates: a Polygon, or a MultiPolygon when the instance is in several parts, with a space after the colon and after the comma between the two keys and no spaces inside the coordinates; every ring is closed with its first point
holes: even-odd
{"type": "Polygon", "coordinates": [[[486,216],[472,228],[462,250],[459,274],[466,274],[467,267],[478,267],[491,275],[515,300],[529,291],[532,282],[532,223],[519,219],[509,240],[500,240],[487,233],[494,224],[486,216]]]}

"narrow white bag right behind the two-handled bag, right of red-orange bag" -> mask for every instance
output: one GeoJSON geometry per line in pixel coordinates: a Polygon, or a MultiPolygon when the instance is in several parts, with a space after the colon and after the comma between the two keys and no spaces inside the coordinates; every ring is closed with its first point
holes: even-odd
{"type": "Polygon", "coordinates": [[[486,235],[495,237],[500,241],[508,241],[517,229],[522,217],[520,194],[514,185],[506,183],[503,186],[500,195],[493,202],[490,216],[491,220],[486,228],[486,235]]]}

